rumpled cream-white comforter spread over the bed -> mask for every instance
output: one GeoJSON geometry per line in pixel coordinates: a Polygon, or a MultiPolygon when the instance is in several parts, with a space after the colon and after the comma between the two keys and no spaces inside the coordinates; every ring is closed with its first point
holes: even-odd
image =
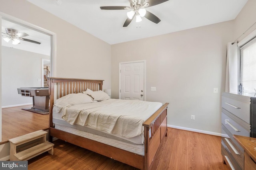
{"type": "Polygon", "coordinates": [[[143,133],[142,123],[162,106],[159,102],[109,99],[70,106],[54,105],[62,119],[73,124],[131,138],[143,133]]]}

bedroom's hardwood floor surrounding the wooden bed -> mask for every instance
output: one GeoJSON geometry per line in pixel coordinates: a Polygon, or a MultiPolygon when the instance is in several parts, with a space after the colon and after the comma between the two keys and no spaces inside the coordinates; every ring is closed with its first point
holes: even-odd
{"type": "MultiPolygon", "coordinates": [[[[222,163],[221,137],[168,128],[152,170],[228,170],[222,163]]],[[[29,170],[137,170],[65,141],[28,161],[29,170]]]]}

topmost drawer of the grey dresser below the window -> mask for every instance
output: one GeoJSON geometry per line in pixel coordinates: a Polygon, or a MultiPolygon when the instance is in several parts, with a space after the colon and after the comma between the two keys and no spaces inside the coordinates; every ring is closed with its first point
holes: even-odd
{"type": "Polygon", "coordinates": [[[250,124],[250,100],[238,100],[231,96],[222,96],[222,108],[250,124]]]}

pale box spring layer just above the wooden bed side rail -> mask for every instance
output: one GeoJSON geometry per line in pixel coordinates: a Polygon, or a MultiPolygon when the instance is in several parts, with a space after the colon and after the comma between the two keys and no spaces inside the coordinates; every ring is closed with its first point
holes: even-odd
{"type": "Polygon", "coordinates": [[[100,136],[100,135],[95,135],[95,134],[92,134],[92,133],[80,131],[78,129],[74,129],[74,128],[67,127],[67,126],[64,126],[64,125],[56,124],[55,128],[59,129],[59,130],[62,130],[62,131],[65,131],[65,132],[68,132],[68,133],[72,133],[74,135],[78,135],[78,136],[81,136],[81,137],[85,137],[87,139],[97,141],[97,142],[100,142],[100,143],[104,143],[104,144],[110,145],[112,147],[116,147],[116,148],[119,148],[119,149],[122,149],[122,150],[126,150],[126,151],[129,151],[129,152],[144,156],[144,145],[133,145],[131,143],[126,143],[126,142],[123,142],[123,141],[118,141],[118,140],[110,139],[110,138],[103,137],[103,136],[100,136]]]}

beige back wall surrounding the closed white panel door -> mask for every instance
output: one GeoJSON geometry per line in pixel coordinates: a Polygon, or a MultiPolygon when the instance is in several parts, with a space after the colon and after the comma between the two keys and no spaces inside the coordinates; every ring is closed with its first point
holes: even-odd
{"type": "Polygon", "coordinates": [[[220,97],[233,25],[227,21],[112,45],[112,98],[118,98],[119,63],[146,60],[146,100],[170,103],[168,125],[221,133],[220,97]]]}

